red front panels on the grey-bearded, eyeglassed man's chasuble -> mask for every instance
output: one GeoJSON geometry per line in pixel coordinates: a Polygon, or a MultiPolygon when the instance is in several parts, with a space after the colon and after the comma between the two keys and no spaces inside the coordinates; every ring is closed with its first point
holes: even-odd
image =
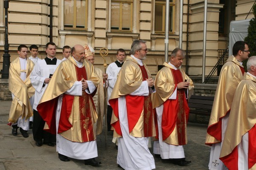
{"type": "MultiPolygon", "coordinates": [[[[142,72],[143,81],[148,79],[147,71],[143,66],[140,66],[142,72]]],[[[153,107],[151,102],[151,94],[148,96],[133,96],[126,95],[126,107],[127,107],[127,117],[128,117],[128,126],[129,133],[134,129],[137,124],[141,113],[143,112],[143,132],[144,137],[152,136],[152,124],[153,124],[153,107]]]]}

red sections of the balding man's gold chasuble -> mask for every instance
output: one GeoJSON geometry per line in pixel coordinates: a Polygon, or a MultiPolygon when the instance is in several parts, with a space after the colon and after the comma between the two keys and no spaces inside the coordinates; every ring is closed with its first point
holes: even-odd
{"type": "MultiPolygon", "coordinates": [[[[76,75],[77,75],[77,80],[80,81],[82,78],[87,80],[87,74],[85,71],[85,68],[78,68],[76,66],[76,75]]],[[[96,90],[95,90],[96,92],[96,90]]],[[[82,92],[82,96],[79,96],[79,115],[80,119],[77,121],[80,121],[80,126],[81,131],[77,133],[81,133],[82,137],[82,142],[89,142],[94,140],[94,135],[93,135],[93,122],[92,122],[92,117],[91,117],[91,112],[90,112],[90,106],[89,106],[89,100],[93,103],[93,94],[87,94],[85,91],[82,92]]],[[[58,133],[64,132],[69,130],[72,125],[69,122],[69,117],[70,113],[72,111],[72,106],[73,106],[73,100],[74,96],[68,95],[68,94],[63,94],[62,98],[62,106],[61,106],[61,115],[60,115],[60,120],[59,120],[59,126],[58,126],[58,133]]],[[[50,128],[49,131],[50,133],[55,134],[56,129],[55,129],[55,111],[57,108],[57,103],[58,103],[58,97],[55,99],[49,100],[47,102],[43,102],[40,105],[38,105],[38,112],[42,116],[42,118],[46,122],[51,122],[50,125],[52,128],[50,128]],[[52,116],[44,116],[44,114],[47,111],[51,111],[52,116]]],[[[95,109],[95,106],[93,104],[93,109],[95,109]]]]}

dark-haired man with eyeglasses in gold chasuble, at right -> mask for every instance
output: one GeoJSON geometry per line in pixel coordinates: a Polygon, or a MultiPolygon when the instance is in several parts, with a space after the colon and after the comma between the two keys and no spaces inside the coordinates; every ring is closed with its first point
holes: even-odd
{"type": "Polygon", "coordinates": [[[247,59],[249,54],[248,45],[244,41],[237,41],[233,46],[233,55],[221,68],[205,141],[205,144],[212,146],[209,170],[227,170],[227,167],[219,160],[219,156],[234,93],[243,79],[242,61],[247,59]]]}

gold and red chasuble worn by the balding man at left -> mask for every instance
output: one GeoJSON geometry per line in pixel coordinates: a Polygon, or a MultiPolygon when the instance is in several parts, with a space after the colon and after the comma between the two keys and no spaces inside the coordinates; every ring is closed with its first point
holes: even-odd
{"type": "Polygon", "coordinates": [[[96,90],[94,94],[83,91],[82,96],[64,94],[75,81],[82,78],[92,81],[96,87],[99,83],[93,65],[87,60],[84,60],[82,68],[77,66],[73,57],[64,60],[53,74],[37,107],[38,113],[46,122],[45,130],[55,134],[55,112],[58,98],[63,95],[58,134],[72,142],[89,142],[96,139],[94,124],[98,116],[92,99],[96,90]]]}

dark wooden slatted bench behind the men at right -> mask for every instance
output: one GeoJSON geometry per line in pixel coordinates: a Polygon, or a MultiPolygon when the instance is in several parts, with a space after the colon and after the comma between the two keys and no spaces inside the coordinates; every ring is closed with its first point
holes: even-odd
{"type": "Polygon", "coordinates": [[[210,116],[212,111],[214,96],[197,96],[192,95],[189,99],[189,114],[195,114],[195,121],[197,122],[197,115],[210,116]]]}

